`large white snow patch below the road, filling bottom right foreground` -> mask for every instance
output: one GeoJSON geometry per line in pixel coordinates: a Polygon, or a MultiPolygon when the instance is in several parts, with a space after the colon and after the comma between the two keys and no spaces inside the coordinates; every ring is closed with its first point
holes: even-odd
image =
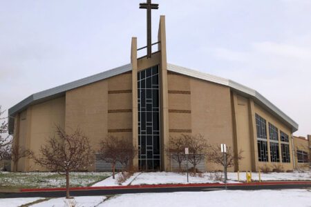
{"type": "Polygon", "coordinates": [[[104,201],[99,207],[240,207],[240,206],[310,206],[308,190],[218,190],[210,192],[128,194],[104,201]]]}

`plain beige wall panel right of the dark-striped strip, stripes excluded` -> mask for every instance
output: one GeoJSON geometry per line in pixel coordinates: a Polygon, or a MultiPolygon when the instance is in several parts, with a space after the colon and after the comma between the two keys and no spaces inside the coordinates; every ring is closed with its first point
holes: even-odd
{"type": "MultiPolygon", "coordinates": [[[[209,144],[233,148],[230,89],[209,81],[191,78],[191,129],[202,134],[209,144]]],[[[207,170],[222,170],[206,161],[207,170]]],[[[233,169],[229,169],[233,170],[233,169]]]]}

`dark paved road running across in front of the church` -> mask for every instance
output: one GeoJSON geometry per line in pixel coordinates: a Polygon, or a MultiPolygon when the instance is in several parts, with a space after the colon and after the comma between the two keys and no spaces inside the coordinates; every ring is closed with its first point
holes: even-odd
{"type": "MultiPolygon", "coordinates": [[[[293,188],[311,188],[311,184],[274,184],[259,186],[228,186],[228,190],[275,190],[275,189],[293,189],[293,188]]],[[[211,191],[223,190],[224,186],[185,186],[185,187],[165,187],[165,188],[126,188],[126,189],[100,189],[100,190],[72,190],[70,195],[73,197],[92,196],[92,195],[118,195],[128,193],[172,193],[182,191],[211,191]]],[[[1,198],[17,197],[64,197],[64,191],[43,191],[26,193],[0,193],[1,198]]]]}

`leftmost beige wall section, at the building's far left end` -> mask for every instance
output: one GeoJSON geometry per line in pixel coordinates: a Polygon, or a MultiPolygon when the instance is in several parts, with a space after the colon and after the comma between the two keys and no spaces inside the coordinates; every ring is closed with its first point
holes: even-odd
{"type": "MultiPolygon", "coordinates": [[[[65,97],[52,99],[28,107],[19,115],[19,146],[28,148],[39,155],[41,145],[46,139],[55,135],[55,126],[64,128],[65,97]]],[[[37,166],[32,159],[21,159],[17,166],[18,171],[45,170],[37,166]]]]}

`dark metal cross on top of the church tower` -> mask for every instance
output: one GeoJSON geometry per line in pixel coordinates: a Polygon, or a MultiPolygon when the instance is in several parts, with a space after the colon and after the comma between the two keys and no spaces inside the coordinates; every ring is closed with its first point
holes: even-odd
{"type": "Polygon", "coordinates": [[[156,3],[151,3],[151,0],[147,0],[147,3],[140,3],[140,8],[147,9],[147,58],[151,58],[151,10],[158,10],[159,5],[156,3]]]}

